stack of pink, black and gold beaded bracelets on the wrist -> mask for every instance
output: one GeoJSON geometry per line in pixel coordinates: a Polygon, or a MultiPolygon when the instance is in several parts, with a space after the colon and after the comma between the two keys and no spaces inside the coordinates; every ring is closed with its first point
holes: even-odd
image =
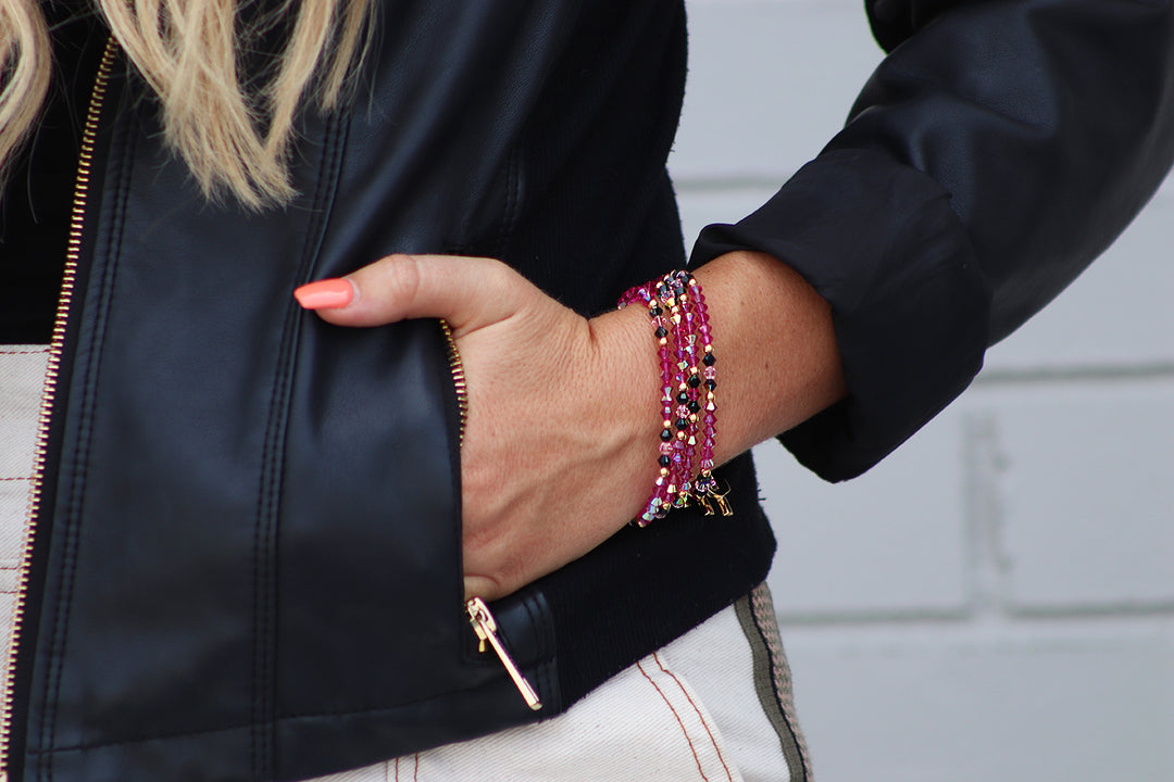
{"type": "Polygon", "coordinates": [[[687,271],[669,272],[629,290],[620,299],[620,307],[637,302],[648,310],[660,345],[663,428],[660,475],[636,523],[647,526],[673,508],[693,502],[707,516],[714,515],[714,504],[722,516],[731,516],[713,476],[717,356],[701,285],[687,271]]]}

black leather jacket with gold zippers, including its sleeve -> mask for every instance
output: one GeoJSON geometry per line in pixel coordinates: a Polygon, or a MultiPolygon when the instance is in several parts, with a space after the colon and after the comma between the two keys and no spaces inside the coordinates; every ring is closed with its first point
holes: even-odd
{"type": "MultiPolygon", "coordinates": [[[[737,516],[629,529],[494,611],[461,601],[457,401],[437,325],[346,331],[301,283],[392,251],[504,258],[576,310],[682,263],[664,158],[679,2],[387,1],[302,193],[207,204],[115,63],[61,345],[9,778],[296,780],[555,714],[765,574],[737,516]]],[[[788,435],[866,468],[970,380],[1174,156],[1168,2],[871,4],[893,55],[846,130],[696,258],[774,252],[831,300],[852,395],[788,435]]],[[[472,401],[475,406],[475,400],[472,401]]]]}

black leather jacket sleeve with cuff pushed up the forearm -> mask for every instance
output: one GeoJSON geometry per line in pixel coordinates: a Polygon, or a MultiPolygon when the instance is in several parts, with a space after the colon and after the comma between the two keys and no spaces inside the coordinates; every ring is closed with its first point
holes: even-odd
{"type": "Polygon", "coordinates": [[[848,123],[693,263],[762,250],[832,306],[849,397],[781,435],[826,480],[957,396],[1174,161],[1169,0],[868,0],[889,52],[848,123]]]}

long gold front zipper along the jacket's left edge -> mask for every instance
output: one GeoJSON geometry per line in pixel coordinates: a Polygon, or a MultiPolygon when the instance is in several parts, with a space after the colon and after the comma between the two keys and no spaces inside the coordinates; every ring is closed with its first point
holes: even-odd
{"type": "Polygon", "coordinates": [[[20,645],[21,621],[25,618],[25,605],[28,600],[29,569],[33,564],[33,544],[36,539],[36,514],[41,506],[41,485],[45,477],[45,463],[48,456],[49,417],[53,413],[53,401],[58,390],[58,376],[61,368],[61,354],[65,349],[66,326],[69,320],[69,307],[73,301],[74,284],[77,279],[77,261],[81,257],[82,229],[86,224],[86,204],[89,199],[89,178],[94,163],[94,144],[97,138],[97,123],[102,115],[102,103],[106,88],[114,67],[117,45],[112,35],[106,41],[102,60],[94,76],[94,88],[89,94],[89,108],[86,111],[86,124],[82,128],[81,149],[77,154],[77,176],[74,179],[73,210],[69,213],[69,242],[66,246],[66,267],[61,278],[61,295],[58,298],[58,312],[53,321],[53,338],[49,342],[49,360],[45,370],[45,386],[41,392],[41,412],[36,423],[36,449],[33,462],[33,484],[29,489],[25,543],[20,557],[18,576],[16,603],[12,612],[12,631],[8,637],[8,667],[5,671],[4,700],[0,703],[0,782],[8,781],[8,753],[12,736],[13,687],[16,680],[16,648],[20,645]]]}

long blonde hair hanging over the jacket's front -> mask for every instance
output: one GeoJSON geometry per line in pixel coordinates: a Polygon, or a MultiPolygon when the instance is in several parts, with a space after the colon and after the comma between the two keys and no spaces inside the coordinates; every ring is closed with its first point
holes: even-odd
{"type": "MultiPolygon", "coordinates": [[[[371,0],[279,0],[238,21],[237,0],[95,0],[158,95],[167,144],[209,198],[259,209],[289,200],[289,150],[298,108],[336,108],[367,48],[371,0]],[[242,60],[288,25],[276,64],[243,80],[242,60]],[[237,29],[239,27],[239,29],[237,29]]],[[[39,0],[0,0],[0,174],[35,127],[52,72],[39,0]]]]}

